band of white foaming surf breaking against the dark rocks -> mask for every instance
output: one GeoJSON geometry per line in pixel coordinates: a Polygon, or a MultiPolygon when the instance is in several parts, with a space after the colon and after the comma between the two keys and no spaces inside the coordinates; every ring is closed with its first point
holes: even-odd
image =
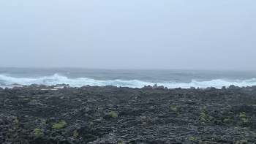
{"type": "MultiPolygon", "coordinates": [[[[18,83],[21,85],[31,85],[33,83],[37,83],[39,85],[56,85],[61,83],[69,84],[72,87],[80,87],[80,86],[123,86],[123,87],[131,87],[131,88],[142,88],[143,86],[151,85],[154,83],[144,82],[140,80],[94,80],[90,78],[76,78],[69,79],[67,77],[55,74],[53,76],[40,77],[40,78],[16,78],[9,77],[6,75],[0,75],[0,85],[12,85],[14,83],[18,83]]],[[[207,88],[207,87],[215,87],[222,88],[222,86],[256,86],[256,78],[251,80],[236,80],[235,82],[227,82],[225,80],[210,80],[210,81],[196,81],[192,80],[191,83],[177,83],[175,81],[165,82],[165,83],[157,83],[158,86],[165,86],[167,88],[190,88],[190,87],[199,87],[199,88],[207,88]]]]}

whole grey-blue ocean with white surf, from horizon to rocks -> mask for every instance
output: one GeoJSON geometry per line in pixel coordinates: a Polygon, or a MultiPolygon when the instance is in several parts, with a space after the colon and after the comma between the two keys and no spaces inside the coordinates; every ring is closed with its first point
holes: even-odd
{"type": "Polygon", "coordinates": [[[82,68],[0,68],[0,86],[56,85],[66,83],[80,86],[122,86],[167,88],[255,86],[256,72],[169,70],[169,69],[82,69],[82,68]]]}

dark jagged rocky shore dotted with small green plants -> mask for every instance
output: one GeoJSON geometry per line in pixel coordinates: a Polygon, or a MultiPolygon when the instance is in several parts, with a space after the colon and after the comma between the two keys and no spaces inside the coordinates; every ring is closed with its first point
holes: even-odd
{"type": "Polygon", "coordinates": [[[256,88],[0,88],[0,143],[256,143],[256,88]]]}

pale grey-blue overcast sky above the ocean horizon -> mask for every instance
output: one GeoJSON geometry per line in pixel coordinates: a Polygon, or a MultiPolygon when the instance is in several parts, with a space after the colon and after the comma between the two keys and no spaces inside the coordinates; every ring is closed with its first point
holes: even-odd
{"type": "Polygon", "coordinates": [[[0,0],[0,67],[255,70],[255,0],[0,0]]]}

